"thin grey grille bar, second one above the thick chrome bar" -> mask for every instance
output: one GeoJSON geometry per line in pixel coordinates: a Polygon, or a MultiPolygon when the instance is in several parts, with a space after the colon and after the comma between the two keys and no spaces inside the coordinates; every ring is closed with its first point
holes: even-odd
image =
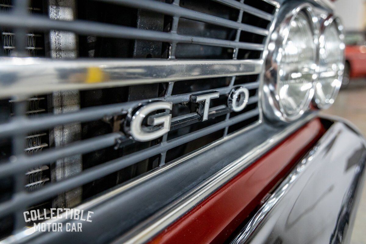
{"type": "Polygon", "coordinates": [[[201,22],[224,26],[232,29],[244,30],[259,35],[268,35],[268,30],[266,29],[246,25],[243,23],[219,18],[208,14],[203,14],[193,10],[188,10],[186,8],[179,7],[178,5],[175,4],[161,3],[158,1],[152,2],[151,0],[103,0],[103,1],[124,4],[130,7],[143,8],[154,12],[160,12],[161,14],[198,20],[201,22]]]}

